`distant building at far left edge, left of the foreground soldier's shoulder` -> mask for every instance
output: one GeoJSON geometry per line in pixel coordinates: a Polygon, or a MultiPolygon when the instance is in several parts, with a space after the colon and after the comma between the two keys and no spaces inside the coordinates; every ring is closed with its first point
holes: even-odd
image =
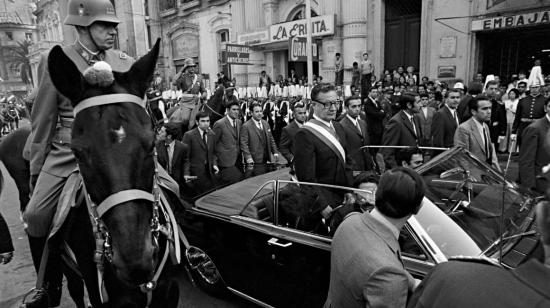
{"type": "Polygon", "coordinates": [[[36,23],[30,1],[0,2],[0,91],[24,95],[32,77],[28,46],[35,40],[36,23]]]}

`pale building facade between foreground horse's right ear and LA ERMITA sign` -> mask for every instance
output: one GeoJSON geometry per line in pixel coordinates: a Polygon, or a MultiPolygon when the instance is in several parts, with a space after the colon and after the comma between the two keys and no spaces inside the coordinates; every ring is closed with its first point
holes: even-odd
{"type": "Polygon", "coordinates": [[[187,58],[198,64],[206,86],[214,87],[216,74],[224,70],[221,52],[233,35],[230,7],[229,0],[148,1],[149,40],[162,39],[162,87],[170,86],[187,58]]]}

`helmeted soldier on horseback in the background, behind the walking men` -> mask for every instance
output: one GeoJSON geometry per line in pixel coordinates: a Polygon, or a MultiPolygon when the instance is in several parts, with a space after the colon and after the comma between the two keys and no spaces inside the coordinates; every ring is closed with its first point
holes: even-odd
{"type": "Polygon", "coordinates": [[[185,59],[183,69],[174,78],[174,85],[183,92],[183,97],[171,114],[170,120],[181,122],[183,132],[195,126],[195,115],[201,108],[201,101],[206,99],[204,82],[202,76],[195,73],[196,66],[193,59],[185,59]]]}

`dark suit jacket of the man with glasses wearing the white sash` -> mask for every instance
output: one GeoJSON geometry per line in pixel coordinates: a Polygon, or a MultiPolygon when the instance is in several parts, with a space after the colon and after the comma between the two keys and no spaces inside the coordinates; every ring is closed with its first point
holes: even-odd
{"type": "MultiPolygon", "coordinates": [[[[338,122],[332,122],[340,144],[347,143],[344,128],[338,122]]],[[[320,124],[322,125],[322,124],[320,124]]],[[[323,141],[306,129],[299,129],[294,136],[294,169],[296,177],[302,182],[351,185],[351,170],[339,156],[323,141]]],[[[351,158],[346,153],[346,161],[351,158]]]]}

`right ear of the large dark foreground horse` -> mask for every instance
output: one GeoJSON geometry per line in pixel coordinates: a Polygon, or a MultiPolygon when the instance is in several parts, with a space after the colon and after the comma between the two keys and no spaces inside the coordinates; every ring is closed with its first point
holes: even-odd
{"type": "Polygon", "coordinates": [[[130,70],[122,74],[122,79],[137,85],[138,95],[145,95],[153,80],[153,74],[155,72],[155,66],[157,65],[157,58],[160,49],[160,38],[157,39],[155,46],[143,57],[139,58],[130,70]]]}

